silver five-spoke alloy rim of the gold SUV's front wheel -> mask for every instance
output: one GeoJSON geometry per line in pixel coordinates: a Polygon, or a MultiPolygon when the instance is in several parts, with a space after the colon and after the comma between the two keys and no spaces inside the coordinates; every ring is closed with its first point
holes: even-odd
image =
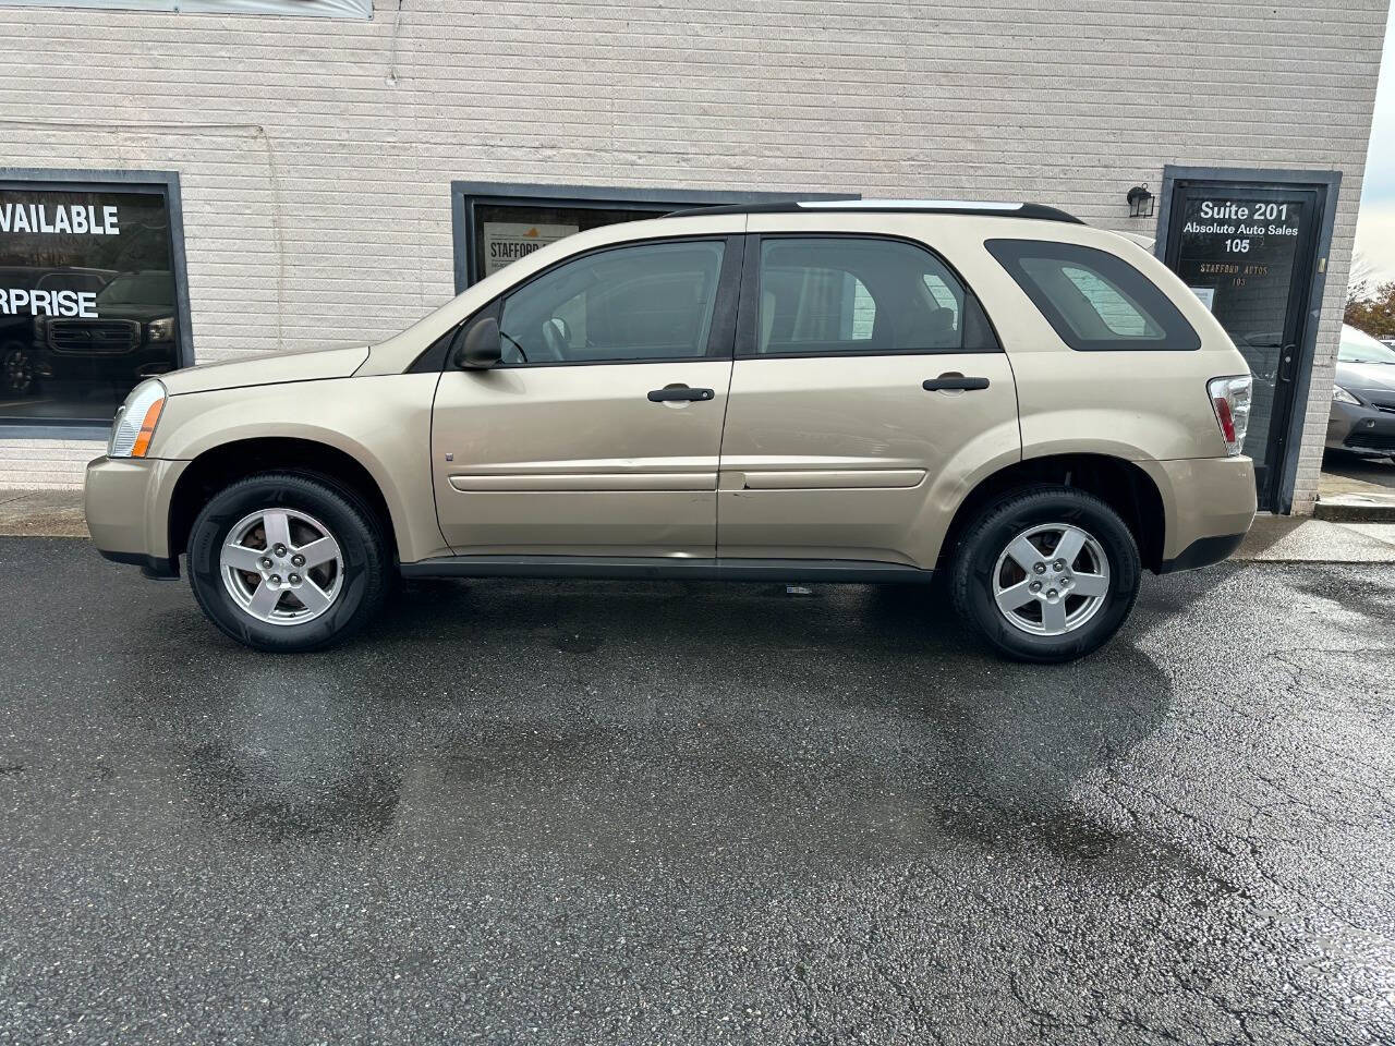
{"type": "Polygon", "coordinates": [[[218,556],[233,601],[268,625],[303,625],[343,591],[343,552],[329,529],[294,509],[261,509],[227,531],[218,556]]]}

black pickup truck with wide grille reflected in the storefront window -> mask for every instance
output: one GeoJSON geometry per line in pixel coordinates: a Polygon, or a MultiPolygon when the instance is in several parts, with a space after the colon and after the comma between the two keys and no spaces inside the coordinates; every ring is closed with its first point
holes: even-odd
{"type": "Polygon", "coordinates": [[[93,319],[35,321],[36,377],[134,382],[179,367],[169,271],[120,273],[98,291],[96,314],[93,319]]]}

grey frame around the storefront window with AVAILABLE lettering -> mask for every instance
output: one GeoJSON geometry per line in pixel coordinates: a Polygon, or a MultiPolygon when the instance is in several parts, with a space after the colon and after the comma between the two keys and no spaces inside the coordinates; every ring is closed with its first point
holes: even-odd
{"type": "MultiPolygon", "coordinates": [[[[67,192],[156,192],[165,197],[170,225],[170,259],[174,276],[174,314],[179,338],[174,342],[180,368],[194,365],[194,326],[190,319],[188,266],[184,255],[184,211],[179,172],[173,170],[82,170],[43,167],[0,167],[0,188],[67,192]]],[[[100,439],[112,431],[110,418],[0,417],[4,439],[100,439]]]]}

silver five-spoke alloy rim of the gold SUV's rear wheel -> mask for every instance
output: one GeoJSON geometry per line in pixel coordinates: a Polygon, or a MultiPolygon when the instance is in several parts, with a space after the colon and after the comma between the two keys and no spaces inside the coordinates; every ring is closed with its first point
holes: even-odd
{"type": "Polygon", "coordinates": [[[1063,636],[1099,612],[1109,596],[1109,558],[1070,523],[1045,523],[1014,537],[993,568],[993,601],[1007,622],[1034,636],[1063,636]]]}

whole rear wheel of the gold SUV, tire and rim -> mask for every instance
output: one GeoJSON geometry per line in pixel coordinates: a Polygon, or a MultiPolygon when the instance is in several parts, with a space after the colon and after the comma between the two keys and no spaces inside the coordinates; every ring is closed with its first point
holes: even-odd
{"type": "Polygon", "coordinates": [[[1020,661],[1070,661],[1123,625],[1138,596],[1138,545],[1119,513],[1071,487],[988,505],[950,563],[954,607],[1020,661]]]}

